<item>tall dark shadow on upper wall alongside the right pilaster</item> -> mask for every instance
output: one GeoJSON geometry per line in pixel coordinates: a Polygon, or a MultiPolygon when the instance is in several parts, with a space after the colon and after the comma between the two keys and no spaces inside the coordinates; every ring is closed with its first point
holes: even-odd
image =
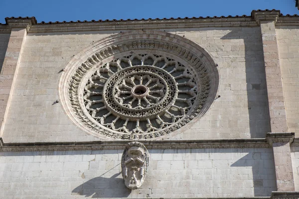
{"type": "MultiPolygon", "coordinates": [[[[270,119],[262,36],[261,33],[257,34],[256,32],[252,32],[252,34],[250,35],[251,32],[242,31],[242,29],[232,30],[233,31],[231,31],[230,33],[221,37],[221,39],[244,40],[250,137],[264,138],[266,137],[266,133],[270,132],[270,119]]],[[[238,44],[236,44],[235,47],[238,48],[238,44]]],[[[241,54],[239,56],[236,55],[236,57],[237,59],[239,58],[240,60],[242,60],[242,58],[244,57],[244,55],[242,55],[243,49],[242,46],[240,46],[239,48],[239,53],[241,54]]],[[[235,62],[241,62],[237,59],[235,62]]],[[[238,75],[239,74],[234,74],[236,79],[238,78],[238,75]]],[[[238,91],[232,92],[237,93],[238,91]]],[[[240,98],[242,98],[242,96],[240,96],[240,98]]],[[[238,105],[239,104],[235,104],[235,107],[238,107],[238,105]]],[[[240,106],[240,108],[242,107],[240,106]]],[[[237,112],[237,114],[242,116],[242,112],[237,112]]]]}

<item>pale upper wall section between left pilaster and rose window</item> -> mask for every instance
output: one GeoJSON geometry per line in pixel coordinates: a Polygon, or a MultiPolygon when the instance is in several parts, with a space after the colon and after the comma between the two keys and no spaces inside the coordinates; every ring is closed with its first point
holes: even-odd
{"type": "Polygon", "coordinates": [[[95,140],[67,118],[58,99],[59,71],[108,34],[28,34],[3,137],[7,142],[95,140]],[[9,133],[8,133],[9,132],[9,133]]]}

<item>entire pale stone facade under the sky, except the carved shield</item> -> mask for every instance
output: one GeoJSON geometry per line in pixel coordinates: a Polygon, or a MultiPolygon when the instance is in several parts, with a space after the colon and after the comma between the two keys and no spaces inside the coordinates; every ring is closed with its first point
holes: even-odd
{"type": "Polygon", "coordinates": [[[5,20],[0,198],[298,198],[298,16],[5,20]]]}

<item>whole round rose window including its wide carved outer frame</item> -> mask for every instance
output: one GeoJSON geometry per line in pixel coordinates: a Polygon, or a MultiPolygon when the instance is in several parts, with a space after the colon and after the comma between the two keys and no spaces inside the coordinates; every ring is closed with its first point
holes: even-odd
{"type": "Polygon", "coordinates": [[[197,44],[157,31],[94,43],[65,68],[59,93],[70,117],[103,139],[155,139],[199,118],[215,98],[215,63],[197,44]]]}

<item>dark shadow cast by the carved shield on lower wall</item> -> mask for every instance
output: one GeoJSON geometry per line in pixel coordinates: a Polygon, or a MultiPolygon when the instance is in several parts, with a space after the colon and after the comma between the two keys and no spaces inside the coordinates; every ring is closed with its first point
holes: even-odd
{"type": "Polygon", "coordinates": [[[92,196],[91,198],[127,198],[131,194],[131,190],[125,186],[123,178],[116,178],[121,174],[120,172],[111,178],[93,178],[76,187],[72,191],[72,195],[92,196]]]}

